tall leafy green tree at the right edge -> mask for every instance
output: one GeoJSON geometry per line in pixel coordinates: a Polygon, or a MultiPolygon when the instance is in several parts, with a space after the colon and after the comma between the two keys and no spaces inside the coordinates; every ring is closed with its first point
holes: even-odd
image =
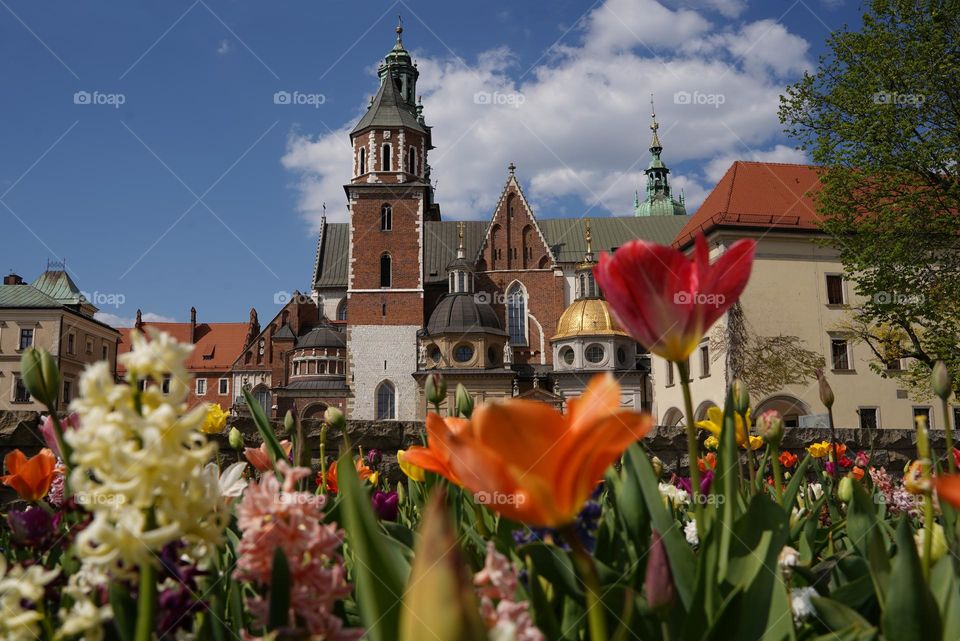
{"type": "Polygon", "coordinates": [[[821,228],[865,302],[850,326],[874,368],[928,393],[960,383],[960,0],[873,0],[781,97],[788,134],[823,167],[821,228]]]}

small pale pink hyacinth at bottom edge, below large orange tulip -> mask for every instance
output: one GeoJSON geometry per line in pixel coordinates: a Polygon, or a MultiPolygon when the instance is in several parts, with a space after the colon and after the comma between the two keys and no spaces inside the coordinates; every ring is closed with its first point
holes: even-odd
{"type": "Polygon", "coordinates": [[[543,633],[533,623],[528,604],[514,600],[517,583],[513,564],[497,552],[492,542],[488,542],[483,569],[473,577],[480,597],[480,615],[487,629],[512,631],[512,638],[516,641],[544,641],[543,633]],[[493,604],[495,599],[498,601],[496,605],[493,604]]]}

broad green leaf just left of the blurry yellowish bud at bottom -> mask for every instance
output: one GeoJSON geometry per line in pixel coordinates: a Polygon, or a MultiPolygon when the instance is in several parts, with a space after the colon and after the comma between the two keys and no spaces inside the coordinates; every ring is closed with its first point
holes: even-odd
{"type": "Polygon", "coordinates": [[[367,639],[395,641],[410,566],[396,543],[381,531],[357,477],[349,447],[343,448],[337,462],[337,481],[342,495],[343,526],[352,552],[357,605],[367,639]]]}

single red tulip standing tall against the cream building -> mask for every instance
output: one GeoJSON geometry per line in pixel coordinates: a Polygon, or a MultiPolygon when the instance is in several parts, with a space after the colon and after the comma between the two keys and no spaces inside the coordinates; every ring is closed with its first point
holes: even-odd
{"type": "Polygon", "coordinates": [[[666,245],[632,240],[594,268],[620,324],[648,350],[675,363],[697,349],[750,278],[756,243],[738,240],[714,264],[698,235],[692,257],[666,245]]]}

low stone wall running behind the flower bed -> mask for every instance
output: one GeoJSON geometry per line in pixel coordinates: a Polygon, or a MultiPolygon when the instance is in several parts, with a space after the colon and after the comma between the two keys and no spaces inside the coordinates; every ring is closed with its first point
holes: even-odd
{"type": "MultiPolygon", "coordinates": [[[[303,422],[315,461],[319,456],[320,421],[303,422]]],[[[252,419],[236,418],[230,421],[244,435],[247,447],[259,447],[260,435],[252,419]]],[[[39,433],[39,415],[36,412],[0,411],[0,456],[13,449],[21,449],[32,455],[43,447],[39,433]]],[[[275,425],[277,434],[285,438],[282,426],[275,425]]],[[[399,479],[396,464],[396,451],[418,445],[423,433],[423,423],[419,421],[348,421],[347,437],[354,447],[364,452],[378,449],[383,454],[382,469],[390,479],[399,479]]],[[[225,431],[226,432],[226,431],[225,431]]],[[[945,451],[944,433],[932,430],[930,433],[934,451],[945,451]]],[[[239,453],[231,450],[226,433],[214,437],[220,443],[221,460],[238,460],[239,453]]],[[[802,457],[804,448],[815,441],[830,438],[828,430],[788,429],[781,449],[789,450],[802,457]]],[[[916,456],[916,433],[913,430],[883,429],[876,431],[838,429],[837,438],[847,445],[850,452],[874,451],[877,465],[887,467],[892,473],[899,473],[904,464],[916,456]]],[[[336,456],[343,443],[340,430],[330,430],[327,434],[327,454],[336,456]]],[[[682,428],[657,427],[644,439],[647,449],[660,457],[667,470],[684,469],[687,465],[686,435],[682,428]]]]}

